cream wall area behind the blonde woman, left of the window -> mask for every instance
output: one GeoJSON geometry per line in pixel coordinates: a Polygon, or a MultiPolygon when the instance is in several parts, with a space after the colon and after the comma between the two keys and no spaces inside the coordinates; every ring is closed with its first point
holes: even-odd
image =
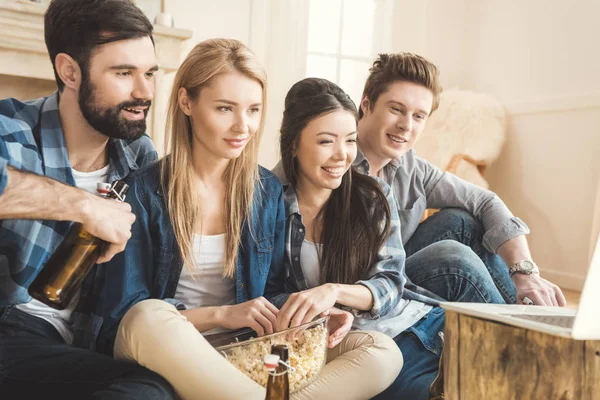
{"type": "MultiPolygon", "coordinates": [[[[200,41],[224,37],[244,42],[263,64],[269,88],[259,163],[272,168],[279,159],[277,140],[285,94],[304,72],[306,7],[294,1],[167,0],[166,11],[173,16],[177,28],[193,32],[182,51],[182,61],[200,41]]],[[[173,76],[170,78],[164,90],[171,90],[173,76]]],[[[154,108],[166,110],[166,104],[154,108]]]]}

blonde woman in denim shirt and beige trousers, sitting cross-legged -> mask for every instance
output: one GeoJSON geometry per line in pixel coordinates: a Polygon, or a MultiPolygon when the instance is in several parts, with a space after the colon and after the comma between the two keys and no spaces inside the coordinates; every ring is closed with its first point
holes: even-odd
{"type": "MultiPolygon", "coordinates": [[[[171,93],[168,156],[128,178],[137,221],[125,251],[101,269],[111,284],[96,301],[98,349],[159,373],[184,399],[265,396],[204,338],[276,326],[278,309],[262,295],[269,272],[282,268],[286,217],[279,180],[257,164],[265,102],[264,70],[241,42],[192,50],[171,93]]],[[[401,364],[393,341],[374,333],[339,344],[352,316],[329,312],[331,358],[344,357],[295,398],[351,385],[383,390],[401,364]],[[365,368],[377,377],[368,380],[365,368]]]]}

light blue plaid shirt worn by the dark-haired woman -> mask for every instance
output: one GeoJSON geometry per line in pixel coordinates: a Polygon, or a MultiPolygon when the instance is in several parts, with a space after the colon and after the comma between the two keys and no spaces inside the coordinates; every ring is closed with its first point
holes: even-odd
{"type": "MultiPolygon", "coordinates": [[[[390,234],[377,253],[377,262],[369,270],[367,279],[356,282],[366,286],[373,295],[373,307],[367,312],[352,311],[362,319],[377,320],[397,309],[400,299],[417,300],[430,305],[438,305],[441,300],[433,293],[410,282],[404,272],[406,253],[400,237],[400,218],[395,207],[392,191],[383,181],[377,179],[386,195],[391,211],[390,234]]],[[[286,258],[284,287],[279,293],[267,293],[267,298],[281,308],[289,293],[309,289],[302,272],[300,253],[306,228],[298,207],[298,198],[292,185],[286,185],[284,193],[286,225],[286,258]],[[285,293],[283,293],[285,292],[285,293]]],[[[275,287],[276,285],[272,285],[275,287]]]]}

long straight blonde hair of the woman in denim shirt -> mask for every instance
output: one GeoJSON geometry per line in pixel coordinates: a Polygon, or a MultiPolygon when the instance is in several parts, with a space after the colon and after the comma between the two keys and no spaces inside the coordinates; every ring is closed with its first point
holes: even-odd
{"type": "Polygon", "coordinates": [[[166,157],[161,171],[163,190],[175,239],[181,256],[190,268],[195,265],[192,253],[194,223],[199,215],[192,163],[192,127],[189,117],[179,107],[179,89],[185,88],[195,101],[202,88],[220,75],[240,72],[262,86],[262,111],[258,131],[252,135],[241,155],[229,162],[225,170],[225,262],[223,276],[234,277],[240,237],[252,210],[254,185],[258,176],[258,145],[265,120],[267,77],[254,54],[240,41],[210,39],[196,45],[183,61],[169,100],[165,132],[166,157]]]}

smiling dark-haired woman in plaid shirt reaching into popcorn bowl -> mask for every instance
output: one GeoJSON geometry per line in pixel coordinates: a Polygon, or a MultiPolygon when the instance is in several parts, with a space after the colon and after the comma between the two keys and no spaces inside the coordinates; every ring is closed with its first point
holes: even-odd
{"type": "MultiPolygon", "coordinates": [[[[391,190],[353,173],[356,123],[352,100],[327,80],[307,78],[288,92],[275,168],[289,182],[286,263],[271,273],[265,295],[280,308],[278,329],[338,305],[355,314],[355,328],[393,337],[404,367],[381,398],[428,399],[444,313],[437,296],[406,278],[391,190]]],[[[503,302],[489,274],[457,282],[446,285],[448,300],[503,302]]]]}

